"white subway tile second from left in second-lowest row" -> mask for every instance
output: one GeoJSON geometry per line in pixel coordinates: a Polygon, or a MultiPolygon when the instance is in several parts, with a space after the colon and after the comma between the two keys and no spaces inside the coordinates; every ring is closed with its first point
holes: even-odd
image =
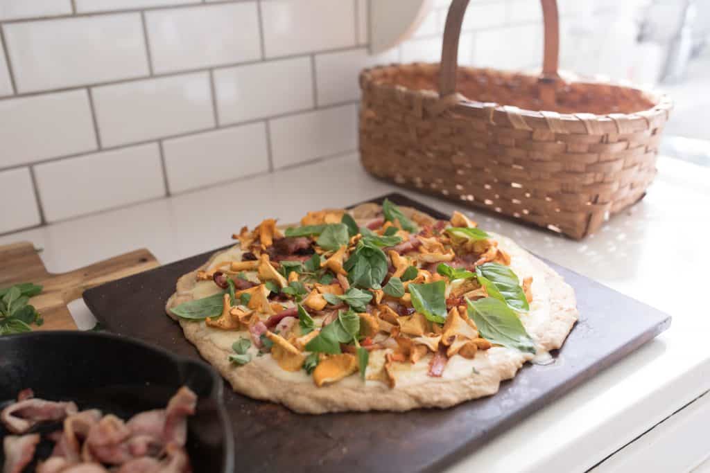
{"type": "Polygon", "coordinates": [[[92,94],[104,146],[214,126],[207,72],[94,87],[92,94]]]}

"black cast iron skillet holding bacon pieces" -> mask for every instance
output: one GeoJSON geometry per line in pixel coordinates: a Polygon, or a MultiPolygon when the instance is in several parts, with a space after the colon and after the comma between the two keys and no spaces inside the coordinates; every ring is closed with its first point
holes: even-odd
{"type": "MultiPolygon", "coordinates": [[[[208,365],[109,333],[48,331],[0,337],[0,406],[21,389],[32,388],[36,397],[72,400],[80,409],[99,408],[125,420],[164,408],[183,384],[199,398],[197,412],[188,421],[192,468],[231,473],[234,442],[222,405],[222,378],[208,365]]],[[[0,426],[0,439],[5,435],[0,426]]],[[[52,445],[43,440],[37,456],[48,456],[52,445]]]]}

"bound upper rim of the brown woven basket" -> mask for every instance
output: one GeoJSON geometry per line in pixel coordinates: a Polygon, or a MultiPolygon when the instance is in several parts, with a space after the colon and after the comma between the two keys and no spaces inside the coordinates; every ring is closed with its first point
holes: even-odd
{"type": "MultiPolygon", "coordinates": [[[[408,63],[392,63],[389,65],[377,65],[367,67],[360,72],[361,89],[368,88],[380,89],[388,91],[397,96],[405,96],[409,99],[420,101],[432,101],[433,103],[442,101],[439,97],[439,92],[431,89],[410,89],[398,84],[377,84],[376,74],[391,69],[422,69],[422,68],[439,68],[439,62],[408,62],[408,63]]],[[[469,67],[459,66],[460,70],[465,71],[483,71],[501,76],[507,75],[510,77],[524,76],[532,79],[539,79],[538,75],[530,74],[521,71],[506,71],[491,67],[469,67]]],[[[532,130],[551,130],[561,126],[564,130],[555,129],[558,133],[574,133],[574,134],[604,134],[604,133],[633,133],[641,130],[649,130],[656,128],[657,120],[667,121],[668,115],[673,108],[673,102],[665,93],[648,89],[647,87],[639,87],[625,81],[615,81],[606,77],[587,78],[581,77],[574,72],[562,71],[561,77],[566,83],[606,85],[612,87],[620,87],[623,89],[632,89],[644,94],[654,105],[645,110],[636,111],[633,113],[558,113],[555,111],[535,111],[527,108],[518,108],[515,106],[506,106],[497,102],[481,102],[474,99],[457,94],[457,101],[452,105],[457,113],[468,116],[476,116],[478,118],[487,117],[493,124],[497,124],[498,118],[506,117],[514,128],[530,128],[532,130]],[[580,80],[584,79],[584,80],[580,80]],[[522,125],[515,123],[515,120],[510,119],[510,114],[523,119],[522,125]],[[559,126],[553,127],[550,124],[550,117],[554,117],[558,121],[559,126]],[[592,131],[589,129],[589,122],[596,123],[592,131]],[[622,123],[623,122],[623,123],[622,123]],[[621,129],[623,128],[623,130],[621,129]]],[[[444,98],[445,100],[445,98],[444,98]]],[[[446,107],[451,108],[451,106],[446,107]]]]}

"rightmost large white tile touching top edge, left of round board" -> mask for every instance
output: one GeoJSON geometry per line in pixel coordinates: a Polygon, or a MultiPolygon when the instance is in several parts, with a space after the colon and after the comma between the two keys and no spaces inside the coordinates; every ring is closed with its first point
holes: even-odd
{"type": "Polygon", "coordinates": [[[262,1],[266,57],[354,45],[354,7],[353,0],[262,1]]]}

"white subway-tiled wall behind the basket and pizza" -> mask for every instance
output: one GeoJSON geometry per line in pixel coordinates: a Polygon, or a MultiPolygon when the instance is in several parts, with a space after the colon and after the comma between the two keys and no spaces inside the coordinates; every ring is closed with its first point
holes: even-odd
{"type": "MultiPolygon", "coordinates": [[[[370,57],[366,0],[0,0],[0,233],[355,150],[359,70],[437,61],[435,3],[370,57]]],[[[540,64],[537,0],[470,8],[464,62],[540,64]]]]}

